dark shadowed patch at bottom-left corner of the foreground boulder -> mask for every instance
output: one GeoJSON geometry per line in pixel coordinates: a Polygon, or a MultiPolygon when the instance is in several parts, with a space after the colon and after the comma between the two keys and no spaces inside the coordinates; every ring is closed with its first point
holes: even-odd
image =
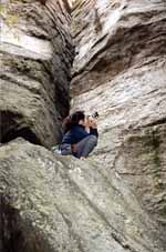
{"type": "Polygon", "coordinates": [[[0,194],[0,251],[2,252],[53,252],[43,234],[32,228],[0,194]]]}

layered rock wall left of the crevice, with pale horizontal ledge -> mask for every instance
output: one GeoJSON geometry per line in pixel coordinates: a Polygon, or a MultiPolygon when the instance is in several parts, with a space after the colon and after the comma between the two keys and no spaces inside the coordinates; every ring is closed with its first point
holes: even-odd
{"type": "Polygon", "coordinates": [[[2,2],[7,7],[1,20],[0,142],[22,135],[51,147],[69,111],[69,6],[61,0],[2,2]]]}

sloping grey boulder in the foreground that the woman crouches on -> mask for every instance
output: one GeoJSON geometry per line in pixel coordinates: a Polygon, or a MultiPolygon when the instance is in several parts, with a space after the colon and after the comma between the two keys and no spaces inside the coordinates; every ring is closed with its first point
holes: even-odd
{"type": "Polygon", "coordinates": [[[3,252],[164,252],[160,232],[114,171],[18,139],[0,148],[3,252]]]}

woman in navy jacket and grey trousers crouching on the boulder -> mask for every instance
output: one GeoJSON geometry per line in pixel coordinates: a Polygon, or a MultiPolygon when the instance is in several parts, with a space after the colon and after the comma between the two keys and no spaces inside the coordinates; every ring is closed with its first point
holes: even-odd
{"type": "Polygon", "coordinates": [[[64,137],[60,144],[62,154],[86,159],[97,144],[97,125],[94,119],[76,111],[64,120],[64,137]]]}

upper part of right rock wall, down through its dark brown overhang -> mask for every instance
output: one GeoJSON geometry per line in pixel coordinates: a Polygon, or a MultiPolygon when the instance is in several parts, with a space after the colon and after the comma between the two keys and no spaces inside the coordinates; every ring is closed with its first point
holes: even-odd
{"type": "Polygon", "coordinates": [[[72,93],[94,89],[166,54],[165,0],[76,1],[72,93]]]}

